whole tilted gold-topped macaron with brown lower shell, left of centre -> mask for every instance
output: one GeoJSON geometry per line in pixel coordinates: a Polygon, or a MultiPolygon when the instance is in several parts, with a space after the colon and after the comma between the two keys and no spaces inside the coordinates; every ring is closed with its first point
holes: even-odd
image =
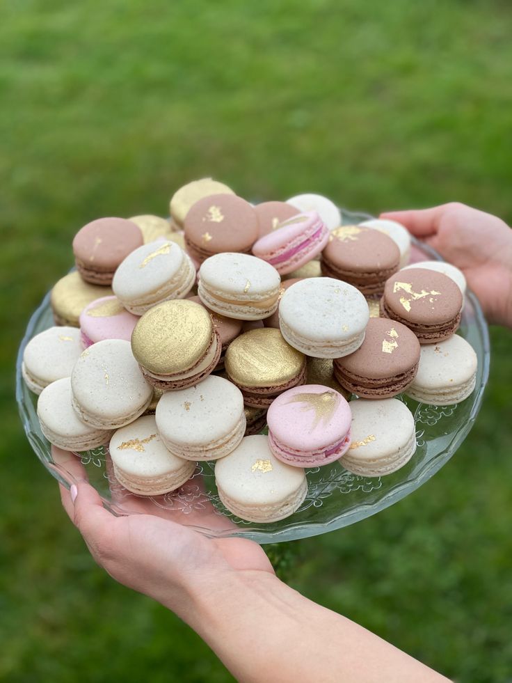
{"type": "Polygon", "coordinates": [[[135,326],[131,348],[147,381],[163,391],[198,384],[221,357],[211,316],[188,299],[150,308],[135,326]]]}

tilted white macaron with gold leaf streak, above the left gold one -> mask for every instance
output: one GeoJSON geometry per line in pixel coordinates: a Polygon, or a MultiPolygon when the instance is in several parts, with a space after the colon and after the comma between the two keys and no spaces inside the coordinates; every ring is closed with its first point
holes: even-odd
{"type": "Polygon", "coordinates": [[[143,315],[169,299],[183,299],[195,283],[191,258],[171,240],[157,240],[132,251],[115,271],[112,289],[123,306],[143,315]]]}

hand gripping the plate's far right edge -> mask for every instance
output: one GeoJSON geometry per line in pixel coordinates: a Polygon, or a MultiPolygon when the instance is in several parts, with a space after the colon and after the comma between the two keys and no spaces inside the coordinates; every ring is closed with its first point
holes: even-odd
{"type": "Polygon", "coordinates": [[[489,322],[512,327],[512,230],[504,221],[456,202],[381,218],[402,223],[460,268],[489,322]]]}

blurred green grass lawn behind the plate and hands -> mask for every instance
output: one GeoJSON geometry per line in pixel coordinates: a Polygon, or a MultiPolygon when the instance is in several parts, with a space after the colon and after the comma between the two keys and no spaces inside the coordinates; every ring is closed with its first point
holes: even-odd
{"type": "MultiPolygon", "coordinates": [[[[1,680],[232,680],[96,567],[19,425],[17,345],[77,228],[166,214],[204,175],[258,200],[318,191],[376,213],[458,200],[510,223],[511,20],[493,0],[3,4],[1,680]]],[[[283,563],[305,595],[461,682],[512,680],[512,334],[492,339],[456,457],[283,563]]]]}

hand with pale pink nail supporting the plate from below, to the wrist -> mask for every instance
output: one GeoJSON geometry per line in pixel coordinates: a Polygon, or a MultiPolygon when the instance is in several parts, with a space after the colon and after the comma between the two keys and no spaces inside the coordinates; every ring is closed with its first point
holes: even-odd
{"type": "Polygon", "coordinates": [[[207,538],[150,513],[154,504],[141,498],[136,514],[115,517],[85,480],[71,491],[60,488],[63,506],[96,562],[113,579],[156,599],[186,622],[202,593],[244,572],[251,580],[255,572],[274,576],[266,554],[250,540],[207,538]]]}

